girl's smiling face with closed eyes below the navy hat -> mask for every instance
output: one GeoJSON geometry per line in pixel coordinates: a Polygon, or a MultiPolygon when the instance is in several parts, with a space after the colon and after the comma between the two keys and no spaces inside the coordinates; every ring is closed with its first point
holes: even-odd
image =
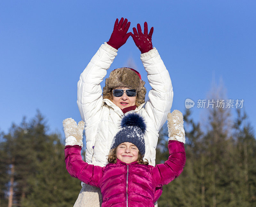
{"type": "Polygon", "coordinates": [[[123,142],[116,148],[116,158],[130,164],[137,161],[139,149],[131,142],[123,142]]]}

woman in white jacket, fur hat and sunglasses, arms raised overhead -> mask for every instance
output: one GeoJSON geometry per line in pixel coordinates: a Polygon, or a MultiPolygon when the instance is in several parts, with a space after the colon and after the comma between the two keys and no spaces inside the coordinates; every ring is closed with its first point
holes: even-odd
{"type": "MultiPolygon", "coordinates": [[[[144,158],[148,159],[149,165],[154,166],[158,132],[167,120],[167,114],[172,107],[172,82],[158,51],[152,46],[153,27],[149,34],[147,22],[144,23],[144,34],[140,24],[137,25],[138,32],[135,27],[133,28],[133,34],[127,33],[129,27],[130,22],[127,23],[127,19],[121,18],[119,23],[116,19],[109,41],[100,46],[77,83],[77,105],[85,122],[85,158],[89,164],[99,166],[108,164],[106,156],[119,130],[120,120],[124,113],[133,111],[140,113],[146,120],[144,158]],[[132,36],[141,51],[140,59],[152,87],[146,104],[145,82],[141,80],[140,73],[131,68],[118,68],[112,71],[106,79],[102,96],[100,82],[116,57],[117,49],[127,41],[129,36],[132,36]],[[119,90],[113,92],[114,89],[119,90]],[[133,89],[133,91],[125,91],[126,89],[133,89]],[[134,91],[137,94],[134,94],[134,91]]],[[[74,207],[100,206],[100,190],[83,183],[82,186],[74,207]]],[[[160,196],[161,192],[158,190],[156,196],[160,196]]]]}

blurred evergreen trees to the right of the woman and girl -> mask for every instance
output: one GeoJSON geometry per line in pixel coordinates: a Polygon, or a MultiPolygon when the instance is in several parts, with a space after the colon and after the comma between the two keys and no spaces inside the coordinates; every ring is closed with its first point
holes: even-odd
{"type": "MultiPolygon", "coordinates": [[[[158,206],[256,206],[256,140],[246,115],[230,119],[225,109],[208,111],[204,132],[184,114],[186,165],[163,187],[158,206]]],[[[156,164],[168,157],[167,128],[159,133],[156,164]]]]}

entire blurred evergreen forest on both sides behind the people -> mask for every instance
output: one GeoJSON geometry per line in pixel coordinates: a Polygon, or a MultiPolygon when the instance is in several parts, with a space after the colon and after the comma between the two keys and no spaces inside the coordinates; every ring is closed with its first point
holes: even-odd
{"type": "MultiPolygon", "coordinates": [[[[256,140],[244,110],[235,118],[225,109],[207,113],[204,126],[184,113],[186,165],[163,187],[159,207],[256,206],[256,140]]],[[[0,207],[74,205],[81,182],[66,170],[63,135],[48,128],[38,111],[1,133],[0,207]]],[[[156,164],[169,156],[167,131],[164,125],[159,133],[156,164]]]]}

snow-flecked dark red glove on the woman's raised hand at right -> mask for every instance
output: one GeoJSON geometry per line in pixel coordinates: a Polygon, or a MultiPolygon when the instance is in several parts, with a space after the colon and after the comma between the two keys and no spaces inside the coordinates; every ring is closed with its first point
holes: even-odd
{"type": "Polygon", "coordinates": [[[148,52],[149,50],[153,49],[152,46],[152,34],[154,31],[154,27],[151,27],[149,34],[148,34],[148,24],[147,22],[144,23],[144,34],[141,32],[140,24],[137,24],[138,32],[135,27],[133,27],[133,33],[131,34],[132,39],[135,45],[140,49],[141,53],[148,52]]]}

